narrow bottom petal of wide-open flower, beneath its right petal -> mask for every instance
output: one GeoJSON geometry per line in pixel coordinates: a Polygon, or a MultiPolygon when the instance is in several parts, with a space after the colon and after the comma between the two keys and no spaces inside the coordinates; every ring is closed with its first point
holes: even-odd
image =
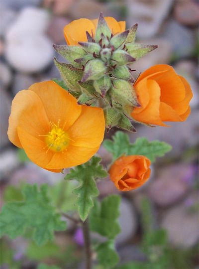
{"type": "Polygon", "coordinates": [[[98,151],[100,146],[95,148],[79,147],[69,145],[67,150],[56,152],[46,168],[59,169],[69,168],[87,162],[98,151]]]}

